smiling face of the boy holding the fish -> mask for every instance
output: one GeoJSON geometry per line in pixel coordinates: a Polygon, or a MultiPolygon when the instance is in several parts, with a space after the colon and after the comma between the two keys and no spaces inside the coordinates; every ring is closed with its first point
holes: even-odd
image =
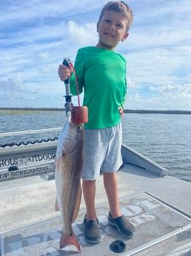
{"type": "Polygon", "coordinates": [[[107,10],[97,24],[99,42],[97,47],[114,50],[118,42],[127,39],[127,20],[121,13],[107,10]]]}

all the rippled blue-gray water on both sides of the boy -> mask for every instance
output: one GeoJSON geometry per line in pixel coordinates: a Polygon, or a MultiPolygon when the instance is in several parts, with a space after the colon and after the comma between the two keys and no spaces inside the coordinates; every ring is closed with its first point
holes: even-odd
{"type": "MultiPolygon", "coordinates": [[[[0,111],[0,133],[62,127],[66,119],[60,111],[0,111]]],[[[172,176],[191,182],[191,115],[124,114],[123,142],[167,168],[172,176]]],[[[58,137],[58,132],[43,138],[58,137]]],[[[40,134],[0,137],[0,144],[40,140],[40,134]]]]}

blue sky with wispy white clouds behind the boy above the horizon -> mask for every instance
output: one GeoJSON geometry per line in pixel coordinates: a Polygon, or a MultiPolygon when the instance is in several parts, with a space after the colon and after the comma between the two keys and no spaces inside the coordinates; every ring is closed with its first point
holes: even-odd
{"type": "MultiPolygon", "coordinates": [[[[0,1],[0,107],[63,108],[64,57],[96,45],[100,0],[0,1]]],[[[191,111],[191,1],[129,0],[125,108],[191,111]]],[[[73,97],[76,105],[77,99],[73,97]]]]}

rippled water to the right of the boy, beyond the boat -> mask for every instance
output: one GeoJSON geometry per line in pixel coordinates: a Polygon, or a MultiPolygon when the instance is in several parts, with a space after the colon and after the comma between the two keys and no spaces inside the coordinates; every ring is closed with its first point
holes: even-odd
{"type": "Polygon", "coordinates": [[[191,181],[191,115],[124,114],[124,143],[191,181]]]}

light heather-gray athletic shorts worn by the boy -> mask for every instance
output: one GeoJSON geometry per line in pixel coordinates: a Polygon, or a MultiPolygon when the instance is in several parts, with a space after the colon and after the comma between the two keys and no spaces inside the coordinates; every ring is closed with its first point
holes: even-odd
{"type": "Polygon", "coordinates": [[[111,128],[84,130],[84,162],[81,178],[96,180],[100,171],[114,173],[122,165],[121,122],[111,128]]]}

